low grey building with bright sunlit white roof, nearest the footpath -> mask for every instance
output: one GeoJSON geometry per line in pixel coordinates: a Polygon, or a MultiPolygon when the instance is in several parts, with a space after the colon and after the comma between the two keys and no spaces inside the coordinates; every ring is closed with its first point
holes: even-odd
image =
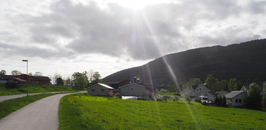
{"type": "Polygon", "coordinates": [[[111,96],[114,88],[105,84],[97,83],[86,89],[88,90],[88,95],[111,96]]]}

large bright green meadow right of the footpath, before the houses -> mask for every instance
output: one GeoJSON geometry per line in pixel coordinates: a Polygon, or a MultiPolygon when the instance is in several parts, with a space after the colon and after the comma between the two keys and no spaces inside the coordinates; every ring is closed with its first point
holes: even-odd
{"type": "Polygon", "coordinates": [[[229,107],[66,95],[59,129],[265,129],[266,112],[229,107]]]}

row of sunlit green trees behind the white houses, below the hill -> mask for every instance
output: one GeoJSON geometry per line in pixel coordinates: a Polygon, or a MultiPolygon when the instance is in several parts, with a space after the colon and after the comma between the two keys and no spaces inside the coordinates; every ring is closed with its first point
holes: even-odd
{"type": "MultiPolygon", "coordinates": [[[[182,90],[185,88],[191,88],[191,85],[199,85],[201,83],[202,82],[199,78],[192,78],[182,86],[182,90]]],[[[213,77],[213,75],[207,75],[204,85],[208,85],[209,89],[213,92],[236,91],[238,89],[236,78],[231,78],[229,81],[225,79],[219,80],[213,77]]]]}

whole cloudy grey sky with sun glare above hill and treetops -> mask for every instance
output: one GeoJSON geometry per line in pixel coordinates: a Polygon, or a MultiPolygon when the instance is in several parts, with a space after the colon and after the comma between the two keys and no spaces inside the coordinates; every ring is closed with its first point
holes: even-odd
{"type": "Polygon", "coordinates": [[[265,1],[1,0],[0,70],[99,71],[265,38],[265,1]]]}

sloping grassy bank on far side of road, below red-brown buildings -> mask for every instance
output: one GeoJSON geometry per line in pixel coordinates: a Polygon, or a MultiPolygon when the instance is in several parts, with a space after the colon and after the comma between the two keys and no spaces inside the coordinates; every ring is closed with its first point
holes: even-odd
{"type": "MultiPolygon", "coordinates": [[[[62,86],[32,85],[29,84],[29,93],[60,92],[62,86]]],[[[85,88],[62,87],[62,91],[86,91],[85,88]]],[[[5,88],[4,83],[0,83],[0,96],[18,95],[27,93],[27,84],[20,85],[20,89],[5,88]]]]}

